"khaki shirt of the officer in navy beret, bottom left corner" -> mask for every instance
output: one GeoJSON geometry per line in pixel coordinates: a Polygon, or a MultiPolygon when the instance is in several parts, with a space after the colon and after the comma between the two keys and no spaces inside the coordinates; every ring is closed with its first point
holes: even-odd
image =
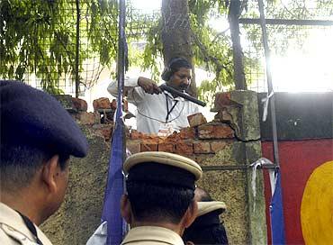
{"type": "MultiPolygon", "coordinates": [[[[43,245],[52,245],[37,225],[35,225],[35,228],[38,238],[43,245]]],[[[21,215],[3,203],[0,203],[0,244],[37,244],[34,236],[31,234],[31,231],[29,231],[23,222],[21,215]]]]}

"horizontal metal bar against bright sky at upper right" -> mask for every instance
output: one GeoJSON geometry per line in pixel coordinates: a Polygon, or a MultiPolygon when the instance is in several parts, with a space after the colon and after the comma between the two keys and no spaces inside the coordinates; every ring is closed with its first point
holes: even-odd
{"type": "MultiPolygon", "coordinates": [[[[260,24],[260,19],[240,18],[239,23],[260,24]]],[[[333,25],[333,21],[323,20],[286,20],[286,19],[266,19],[266,24],[284,24],[284,25],[333,25]]]]}

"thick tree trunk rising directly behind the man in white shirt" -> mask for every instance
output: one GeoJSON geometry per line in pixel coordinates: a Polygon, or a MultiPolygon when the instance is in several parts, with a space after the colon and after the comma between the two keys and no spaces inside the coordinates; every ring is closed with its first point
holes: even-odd
{"type": "MultiPolygon", "coordinates": [[[[192,64],[193,50],[191,42],[191,26],[187,0],[162,1],[163,56],[165,65],[174,57],[184,57],[192,64]]],[[[194,69],[193,69],[194,71],[194,69]]],[[[193,79],[187,93],[197,96],[193,79]]]]}

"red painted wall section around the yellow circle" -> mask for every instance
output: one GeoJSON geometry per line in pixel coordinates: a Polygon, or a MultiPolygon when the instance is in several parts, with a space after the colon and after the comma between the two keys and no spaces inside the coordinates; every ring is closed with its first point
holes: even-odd
{"type": "MultiPolygon", "coordinates": [[[[263,157],[273,161],[273,143],[262,142],[263,157]]],[[[301,227],[302,195],[313,170],[333,159],[333,140],[280,141],[279,157],[284,199],[284,228],[287,244],[304,244],[301,227]]],[[[271,189],[265,172],[268,244],[271,244],[269,204],[271,189]]]]}

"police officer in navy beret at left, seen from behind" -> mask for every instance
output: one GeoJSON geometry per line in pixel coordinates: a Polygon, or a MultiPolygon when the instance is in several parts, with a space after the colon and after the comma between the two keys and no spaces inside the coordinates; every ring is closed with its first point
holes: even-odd
{"type": "Polygon", "coordinates": [[[62,203],[69,157],[85,157],[85,136],[51,95],[0,80],[0,97],[0,244],[51,244],[38,225],[62,203]]]}

